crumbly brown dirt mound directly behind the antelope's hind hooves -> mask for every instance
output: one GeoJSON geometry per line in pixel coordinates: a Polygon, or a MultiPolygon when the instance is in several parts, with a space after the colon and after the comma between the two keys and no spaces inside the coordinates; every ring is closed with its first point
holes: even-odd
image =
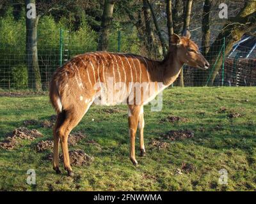
{"type": "MultiPolygon", "coordinates": [[[[90,165],[94,158],[84,153],[83,150],[70,150],[69,152],[70,164],[74,166],[90,165]]],[[[52,153],[44,157],[45,160],[52,161],[52,153]]],[[[60,161],[63,161],[63,154],[60,154],[60,161]]]]}

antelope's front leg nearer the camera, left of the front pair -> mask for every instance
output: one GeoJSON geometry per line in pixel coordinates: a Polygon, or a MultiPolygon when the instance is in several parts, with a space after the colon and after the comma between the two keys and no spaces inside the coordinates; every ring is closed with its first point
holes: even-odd
{"type": "Polygon", "coordinates": [[[129,121],[129,135],[130,135],[130,159],[134,166],[138,165],[135,157],[135,138],[136,138],[136,131],[138,127],[138,120],[140,115],[140,108],[139,105],[129,105],[128,110],[128,121],[129,121]]]}

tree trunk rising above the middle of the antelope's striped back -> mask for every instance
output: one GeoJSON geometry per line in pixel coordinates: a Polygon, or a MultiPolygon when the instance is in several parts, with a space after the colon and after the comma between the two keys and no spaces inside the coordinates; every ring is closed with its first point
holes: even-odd
{"type": "Polygon", "coordinates": [[[108,50],[109,29],[113,19],[114,3],[115,1],[113,0],[105,0],[105,3],[104,3],[104,10],[102,14],[101,31],[100,31],[100,38],[99,38],[99,45],[98,45],[99,51],[108,50]]]}

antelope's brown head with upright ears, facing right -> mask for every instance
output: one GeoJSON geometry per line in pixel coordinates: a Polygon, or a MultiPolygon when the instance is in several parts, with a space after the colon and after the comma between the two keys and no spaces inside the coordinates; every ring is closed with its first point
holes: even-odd
{"type": "Polygon", "coordinates": [[[177,47],[177,57],[182,64],[187,64],[199,69],[208,69],[210,64],[201,54],[198,46],[190,40],[191,33],[188,29],[182,31],[182,37],[177,34],[171,36],[171,43],[177,47]]]}

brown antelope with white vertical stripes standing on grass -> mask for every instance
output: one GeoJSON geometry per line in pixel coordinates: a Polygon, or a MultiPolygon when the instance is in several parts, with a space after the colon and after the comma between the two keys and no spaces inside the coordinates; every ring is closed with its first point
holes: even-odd
{"type": "Polygon", "coordinates": [[[95,52],[77,55],[56,70],[49,88],[51,103],[58,113],[53,129],[53,168],[56,173],[61,173],[61,142],[65,170],[68,175],[73,174],[68,155],[68,135],[96,99],[101,100],[103,105],[115,105],[122,101],[127,103],[130,159],[134,165],[138,164],[135,158],[137,128],[140,130],[140,153],[145,156],[143,105],[176,80],[183,64],[200,69],[209,68],[209,63],[200,54],[198,46],[190,40],[190,36],[188,30],[182,33],[182,37],[173,34],[170,50],[163,61],[152,61],[140,55],[95,52]],[[122,89],[118,97],[112,95],[111,98],[109,94],[109,78],[112,78],[114,85],[118,84],[117,87],[122,89]],[[138,94],[132,94],[134,87],[131,83],[144,84],[139,94],[140,100],[136,100],[138,94]],[[163,83],[160,89],[157,88],[157,83],[163,83]],[[153,84],[153,92],[148,91],[150,84],[153,84]],[[136,100],[135,104],[129,103],[131,98],[136,100]]]}

